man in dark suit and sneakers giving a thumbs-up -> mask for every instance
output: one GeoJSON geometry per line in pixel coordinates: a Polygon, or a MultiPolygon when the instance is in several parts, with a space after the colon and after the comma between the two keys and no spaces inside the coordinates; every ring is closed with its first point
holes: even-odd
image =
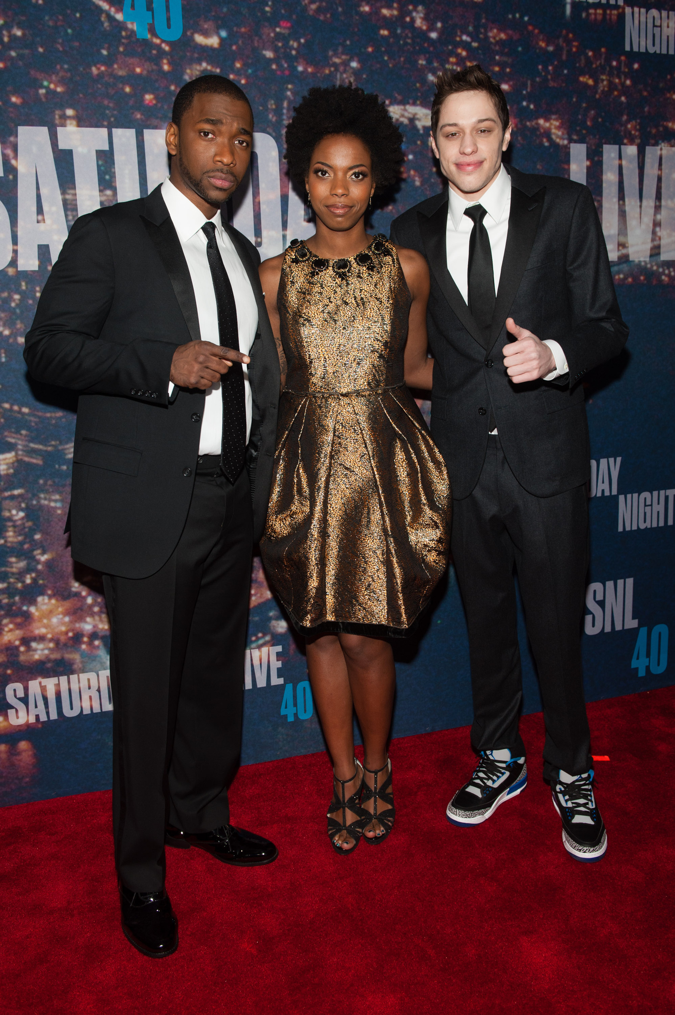
{"type": "Polygon", "coordinates": [[[431,144],[449,188],[392,225],[423,254],[434,357],[431,432],[454,495],[452,552],[469,629],[479,752],[450,821],[476,825],[526,786],[514,570],[534,652],[544,777],[562,841],[599,860],[580,623],[588,568],[582,378],[617,355],[621,320],[590,191],[507,170],[509,109],[478,65],[436,78],[431,144]]]}

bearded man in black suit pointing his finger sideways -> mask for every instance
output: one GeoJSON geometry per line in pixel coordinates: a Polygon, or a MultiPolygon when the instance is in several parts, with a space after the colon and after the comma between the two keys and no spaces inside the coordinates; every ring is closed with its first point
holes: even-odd
{"type": "Polygon", "coordinates": [[[79,392],[72,555],[104,573],[122,925],[149,956],[178,947],[165,841],[277,856],[227,803],[279,395],[260,257],[221,217],[252,142],[234,82],[181,88],[171,176],[75,222],[25,337],[30,374],[79,392]]]}

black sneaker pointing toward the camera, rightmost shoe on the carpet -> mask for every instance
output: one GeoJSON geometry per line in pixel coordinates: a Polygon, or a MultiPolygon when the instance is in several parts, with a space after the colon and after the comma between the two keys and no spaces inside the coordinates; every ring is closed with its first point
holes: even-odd
{"type": "Polygon", "coordinates": [[[593,793],[593,768],[568,775],[560,768],[551,783],[553,804],[562,818],[562,844],[575,860],[595,864],[607,851],[607,832],[593,793]]]}

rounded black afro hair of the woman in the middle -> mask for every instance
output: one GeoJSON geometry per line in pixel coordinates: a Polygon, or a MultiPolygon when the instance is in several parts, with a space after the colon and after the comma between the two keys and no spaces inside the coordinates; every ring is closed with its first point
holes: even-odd
{"type": "Polygon", "coordinates": [[[310,171],[312,152],[333,134],[348,134],[362,141],[370,152],[376,190],[390,187],[403,162],[403,135],[384,101],[374,92],[351,84],[310,88],[286,127],[288,173],[299,193],[310,171]]]}

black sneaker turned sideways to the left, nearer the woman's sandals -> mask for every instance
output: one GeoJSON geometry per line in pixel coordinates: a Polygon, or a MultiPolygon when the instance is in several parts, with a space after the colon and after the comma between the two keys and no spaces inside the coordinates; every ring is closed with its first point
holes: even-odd
{"type": "Polygon", "coordinates": [[[517,797],[527,782],[525,758],[512,758],[507,747],[481,751],[476,770],[448,804],[446,817],[458,825],[482,824],[504,800],[517,797]]]}

